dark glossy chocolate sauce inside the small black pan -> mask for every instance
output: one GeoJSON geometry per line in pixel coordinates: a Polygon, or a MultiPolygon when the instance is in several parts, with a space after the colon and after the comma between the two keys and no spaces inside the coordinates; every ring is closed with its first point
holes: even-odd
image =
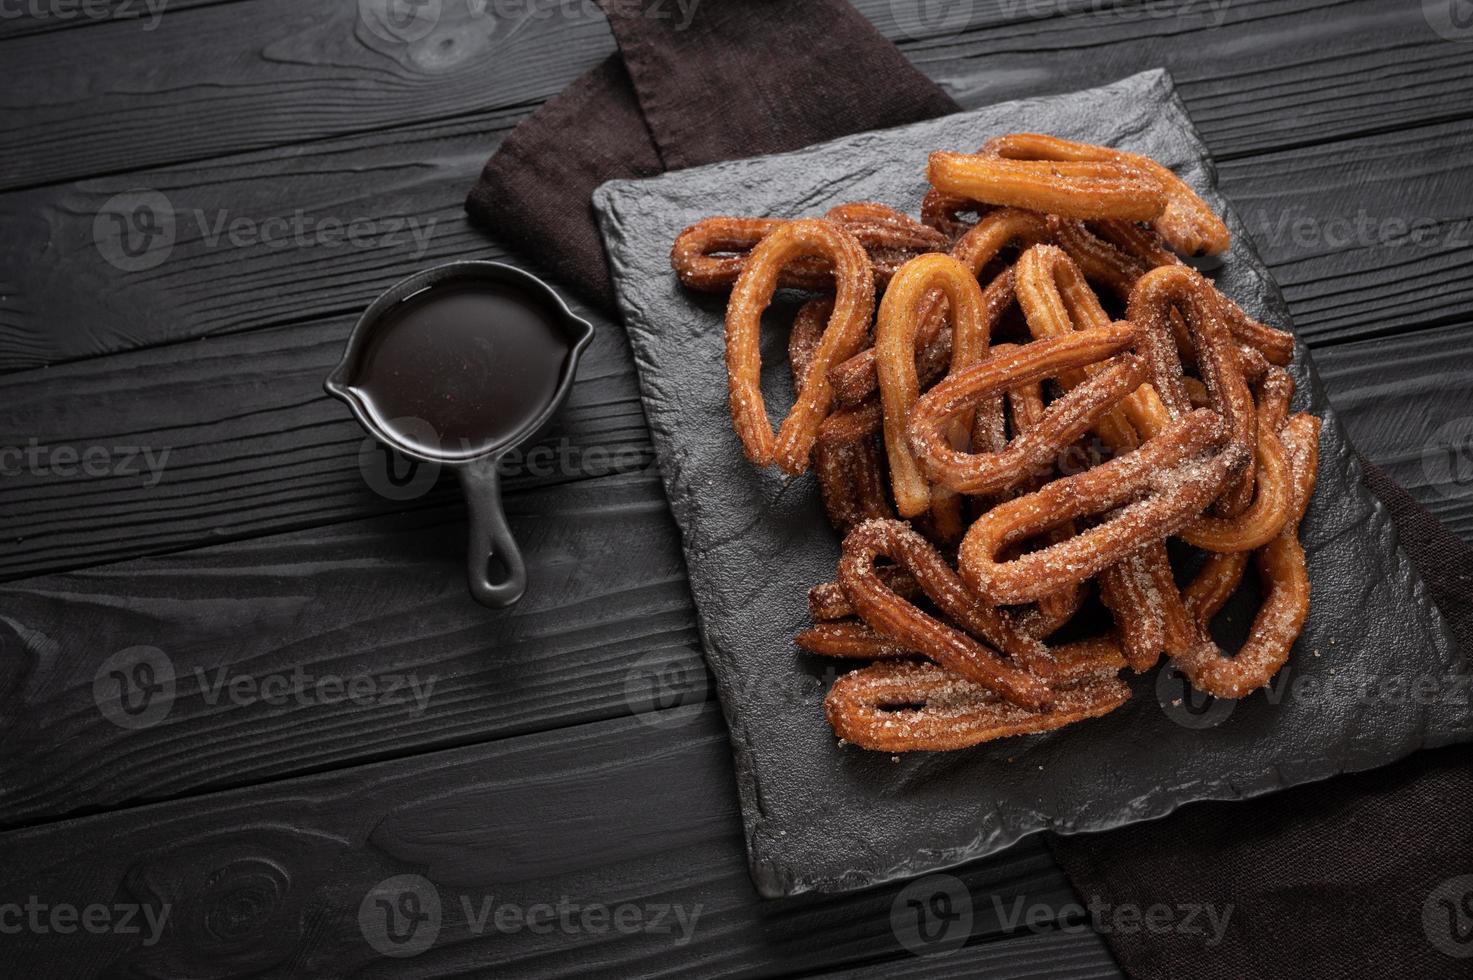
{"type": "Polygon", "coordinates": [[[546,302],[526,290],[448,283],[384,314],[351,388],[404,445],[464,458],[521,433],[548,407],[572,348],[546,302]],[[426,423],[437,445],[427,445],[426,423]]]}

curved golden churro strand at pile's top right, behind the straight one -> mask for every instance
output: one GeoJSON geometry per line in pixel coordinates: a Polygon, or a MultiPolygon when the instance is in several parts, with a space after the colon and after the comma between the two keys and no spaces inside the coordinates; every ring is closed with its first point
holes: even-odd
{"type": "MultiPolygon", "coordinates": [[[[1000,136],[988,140],[982,146],[982,152],[996,153],[1013,161],[1069,161],[1075,164],[1097,162],[1128,167],[1147,174],[1165,196],[1165,206],[1161,214],[1146,215],[1146,218],[1155,218],[1156,230],[1161,231],[1161,236],[1177,252],[1183,255],[1212,255],[1226,252],[1231,243],[1227,225],[1212,212],[1208,203],[1186,181],[1171,172],[1170,168],[1162,167],[1149,156],[1127,153],[1108,146],[1094,146],[1091,143],[1075,143],[1074,140],[1062,140],[1040,133],[1000,136]]],[[[1049,211],[1053,209],[1050,208],[1049,211]]],[[[1065,212],[1058,211],[1058,214],[1065,212]]],[[[1128,218],[1130,215],[1100,217],[1128,218]]]]}

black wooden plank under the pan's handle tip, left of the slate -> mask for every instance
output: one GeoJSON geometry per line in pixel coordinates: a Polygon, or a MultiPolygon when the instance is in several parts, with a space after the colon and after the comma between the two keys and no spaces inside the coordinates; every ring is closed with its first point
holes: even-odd
{"type": "Polygon", "coordinates": [[[467,594],[460,507],[0,588],[0,825],[627,715],[654,668],[707,699],[653,477],[507,508],[530,576],[508,612],[467,594]],[[138,663],[175,681],[134,724],[138,663]]]}

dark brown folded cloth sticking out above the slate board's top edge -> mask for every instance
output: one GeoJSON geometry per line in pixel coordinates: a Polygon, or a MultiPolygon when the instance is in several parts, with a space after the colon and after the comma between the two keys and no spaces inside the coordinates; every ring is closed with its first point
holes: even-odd
{"type": "Polygon", "coordinates": [[[846,0],[722,0],[689,24],[660,0],[600,0],[620,55],[523,122],[467,211],[614,314],[589,197],[614,177],[781,153],[957,106],[846,0]]]}

